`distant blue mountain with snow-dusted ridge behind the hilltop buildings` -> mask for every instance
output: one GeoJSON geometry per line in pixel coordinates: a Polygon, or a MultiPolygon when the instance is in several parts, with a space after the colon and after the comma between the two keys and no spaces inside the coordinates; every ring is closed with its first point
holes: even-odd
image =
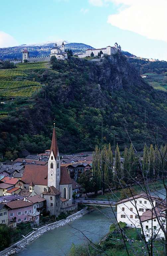
{"type": "Polygon", "coordinates": [[[88,48],[94,49],[92,46],[83,43],[70,43],[67,40],[60,40],[57,42],[45,42],[30,45],[19,45],[9,48],[0,48],[0,59],[21,59],[22,50],[27,48],[31,57],[40,57],[50,54],[50,49],[55,45],[65,44],[65,49],[71,49],[73,52],[83,52],[88,48]]]}

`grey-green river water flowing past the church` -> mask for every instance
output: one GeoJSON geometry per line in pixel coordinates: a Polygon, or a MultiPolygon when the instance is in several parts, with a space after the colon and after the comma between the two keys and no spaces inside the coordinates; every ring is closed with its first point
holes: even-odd
{"type": "MultiPolygon", "coordinates": [[[[114,208],[113,208],[114,209],[114,208]]],[[[70,222],[69,225],[44,233],[34,240],[17,256],[64,256],[68,255],[71,244],[87,243],[87,236],[93,242],[99,242],[109,231],[111,223],[115,222],[110,207],[95,210],[82,218],[70,222]],[[78,229],[78,230],[76,230],[78,229]],[[80,232],[82,231],[84,235],[80,232]]]]}

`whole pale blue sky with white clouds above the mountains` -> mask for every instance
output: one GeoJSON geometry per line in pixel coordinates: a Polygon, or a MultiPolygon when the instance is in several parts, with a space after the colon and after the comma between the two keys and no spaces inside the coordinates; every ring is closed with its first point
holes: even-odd
{"type": "Polygon", "coordinates": [[[0,0],[0,47],[67,40],[167,61],[167,0],[0,0]]]}

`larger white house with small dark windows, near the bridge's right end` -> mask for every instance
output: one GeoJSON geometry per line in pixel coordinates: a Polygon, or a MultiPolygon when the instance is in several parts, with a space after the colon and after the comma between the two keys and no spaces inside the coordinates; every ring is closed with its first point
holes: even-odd
{"type": "Polygon", "coordinates": [[[160,199],[142,193],[123,199],[117,203],[117,221],[125,222],[128,227],[140,228],[140,218],[159,203],[160,199]]]}

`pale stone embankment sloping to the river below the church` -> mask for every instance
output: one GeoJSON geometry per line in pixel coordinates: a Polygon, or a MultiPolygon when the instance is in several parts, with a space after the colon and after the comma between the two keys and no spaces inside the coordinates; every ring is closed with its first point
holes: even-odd
{"type": "Polygon", "coordinates": [[[38,228],[36,231],[33,231],[31,234],[29,234],[24,239],[18,241],[17,243],[15,243],[15,244],[11,245],[10,247],[6,248],[5,250],[1,251],[0,256],[13,255],[13,254],[19,252],[20,250],[24,249],[29,243],[33,242],[35,239],[42,236],[45,232],[49,232],[53,229],[65,226],[69,222],[72,222],[74,220],[81,218],[86,213],[88,213],[87,207],[80,210],[79,212],[76,212],[76,213],[68,216],[66,219],[56,221],[56,222],[50,223],[48,225],[44,225],[44,226],[38,228]]]}

